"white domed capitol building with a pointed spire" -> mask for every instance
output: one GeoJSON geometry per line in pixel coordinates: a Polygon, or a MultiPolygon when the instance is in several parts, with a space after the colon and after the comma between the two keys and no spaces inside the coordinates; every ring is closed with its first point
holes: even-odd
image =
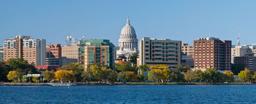
{"type": "Polygon", "coordinates": [[[129,55],[132,53],[139,53],[138,39],[134,27],[130,25],[130,19],[127,17],[126,25],[122,28],[119,38],[119,50],[116,51],[116,58],[124,54],[129,60],[129,55]]]}

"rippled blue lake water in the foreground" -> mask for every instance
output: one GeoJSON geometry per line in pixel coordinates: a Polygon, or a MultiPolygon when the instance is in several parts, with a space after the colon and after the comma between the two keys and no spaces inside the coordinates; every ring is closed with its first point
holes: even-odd
{"type": "Polygon", "coordinates": [[[0,103],[256,103],[255,85],[0,86],[0,103]]]}

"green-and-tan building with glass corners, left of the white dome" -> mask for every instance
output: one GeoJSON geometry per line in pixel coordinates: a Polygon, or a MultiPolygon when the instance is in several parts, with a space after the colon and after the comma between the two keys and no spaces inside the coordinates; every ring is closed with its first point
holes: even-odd
{"type": "Polygon", "coordinates": [[[84,40],[78,47],[78,63],[85,69],[88,65],[96,63],[114,68],[115,45],[110,43],[110,40],[84,40]]]}

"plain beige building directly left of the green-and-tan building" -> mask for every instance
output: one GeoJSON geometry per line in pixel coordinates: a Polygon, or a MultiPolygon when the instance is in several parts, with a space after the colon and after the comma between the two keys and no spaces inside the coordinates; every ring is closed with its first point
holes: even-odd
{"type": "Polygon", "coordinates": [[[61,56],[67,57],[68,59],[77,59],[78,46],[76,45],[61,46],[61,56]]]}

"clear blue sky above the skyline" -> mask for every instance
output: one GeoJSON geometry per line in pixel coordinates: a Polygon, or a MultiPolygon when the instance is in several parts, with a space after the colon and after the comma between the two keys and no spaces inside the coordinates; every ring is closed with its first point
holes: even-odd
{"type": "Polygon", "coordinates": [[[110,39],[117,45],[130,15],[137,38],[192,44],[202,37],[256,43],[256,1],[0,1],[0,46],[16,35],[64,44],[67,35],[110,39]]]}

